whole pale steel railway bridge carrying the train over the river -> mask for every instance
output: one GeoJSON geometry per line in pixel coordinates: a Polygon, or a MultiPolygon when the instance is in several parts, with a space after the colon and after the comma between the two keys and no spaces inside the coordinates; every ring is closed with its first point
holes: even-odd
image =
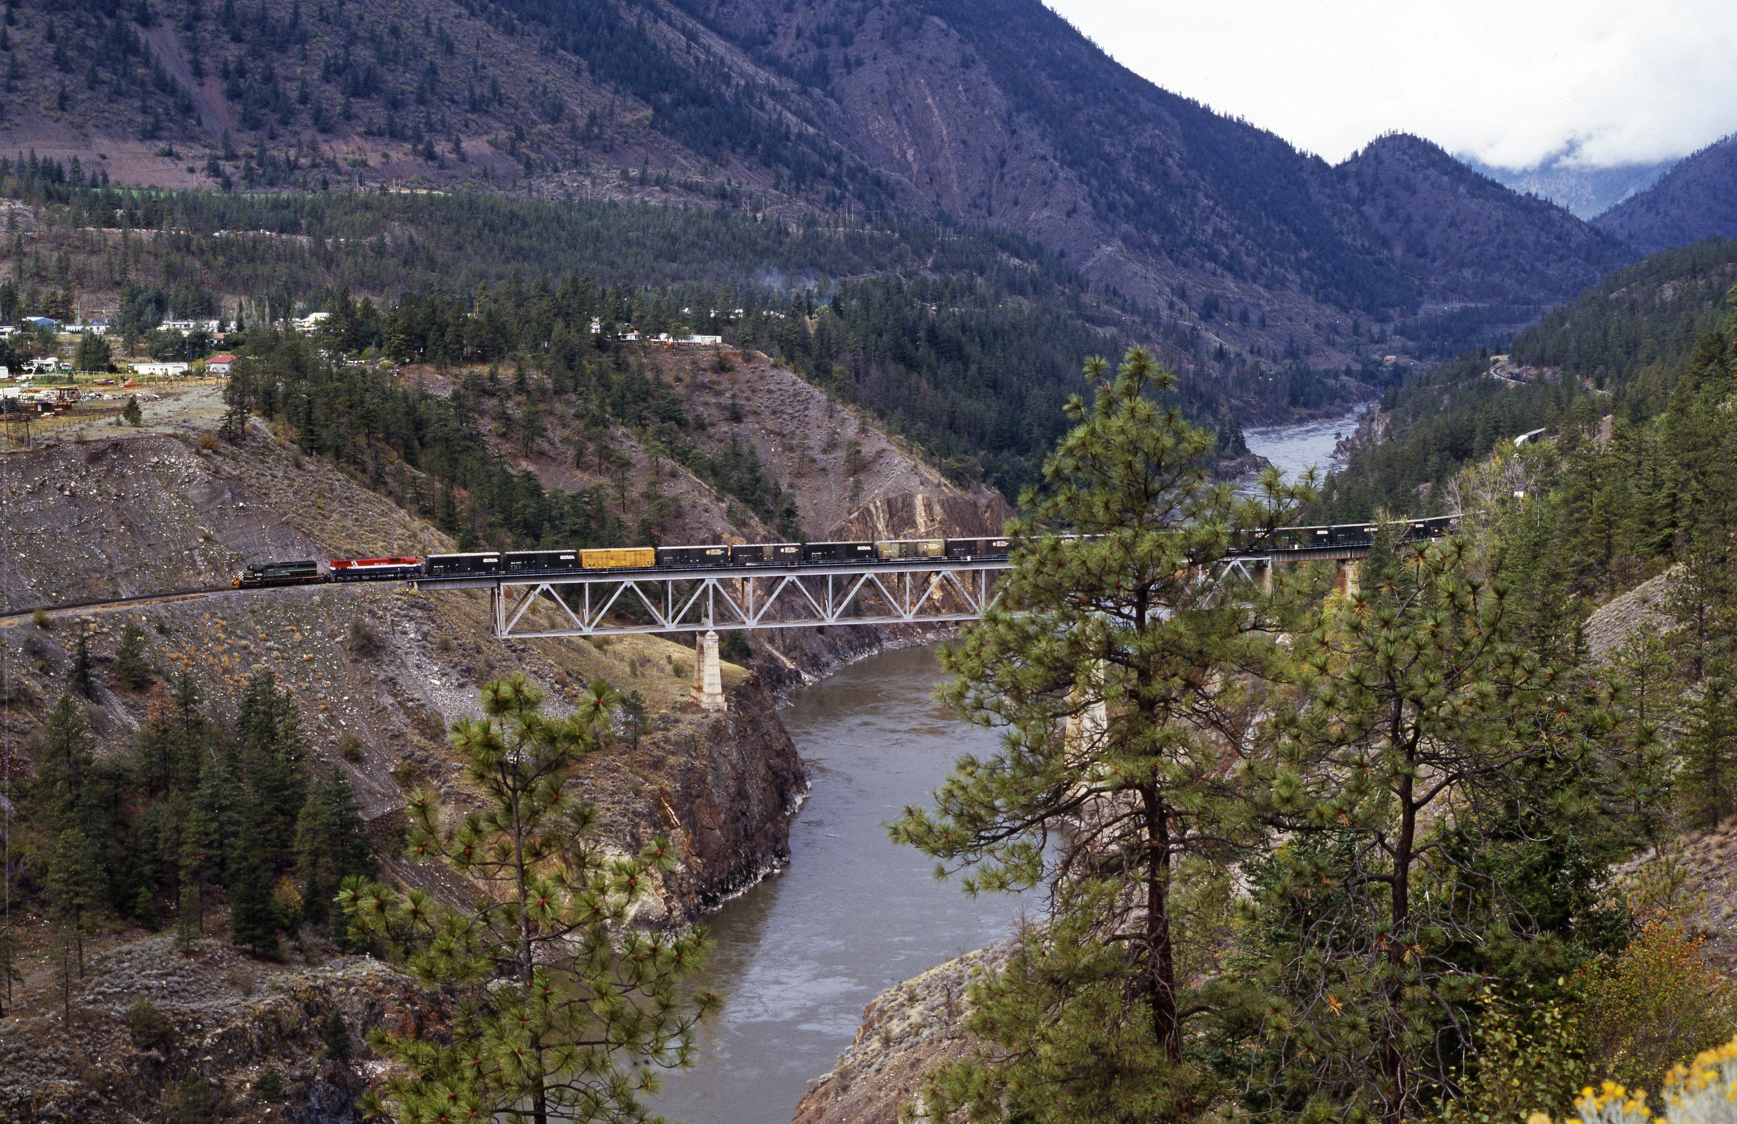
{"type": "MultiPolygon", "coordinates": [[[[1395,540],[1438,539],[1450,518],[1393,525],[1395,540]]],[[[1374,544],[1367,523],[1284,528],[1244,540],[1202,580],[1265,585],[1275,565],[1362,559],[1374,544]]],[[[759,565],[561,573],[492,573],[417,579],[417,589],[486,589],[500,639],[624,636],[717,629],[808,629],[842,624],[954,624],[978,620],[995,603],[1006,558],[905,558],[822,565],[759,565]],[[533,610],[540,610],[533,613],[533,610]],[[554,625],[549,625],[554,617],[554,625]]]]}

